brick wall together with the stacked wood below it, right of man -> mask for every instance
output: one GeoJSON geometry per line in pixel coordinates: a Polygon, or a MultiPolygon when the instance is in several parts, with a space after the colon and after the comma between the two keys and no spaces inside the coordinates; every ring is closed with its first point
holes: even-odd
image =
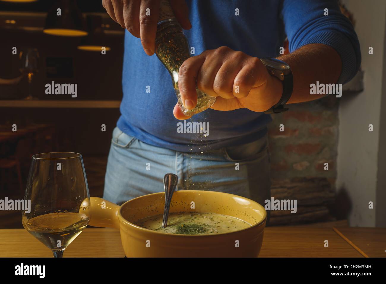
{"type": "Polygon", "coordinates": [[[298,213],[271,212],[271,225],[332,221],[338,145],[338,100],[289,105],[272,115],[269,125],[271,193],[275,199],[296,199],[298,213]],[[280,124],[284,131],[279,131],[280,124]],[[324,163],[328,170],[324,170],[324,163]],[[295,216],[296,215],[296,216],[295,216]]]}

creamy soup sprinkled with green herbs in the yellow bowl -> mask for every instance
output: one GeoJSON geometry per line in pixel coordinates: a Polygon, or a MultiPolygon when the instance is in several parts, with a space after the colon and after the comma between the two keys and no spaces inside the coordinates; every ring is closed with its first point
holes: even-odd
{"type": "Polygon", "coordinates": [[[163,214],[159,214],[139,219],[134,224],[149,230],[183,235],[230,233],[251,226],[241,219],[217,213],[170,213],[166,228],[161,228],[162,219],[163,214]]]}

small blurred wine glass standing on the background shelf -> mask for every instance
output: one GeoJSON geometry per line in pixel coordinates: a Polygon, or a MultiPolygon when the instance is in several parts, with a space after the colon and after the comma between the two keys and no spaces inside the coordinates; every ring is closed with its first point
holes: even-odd
{"type": "Polygon", "coordinates": [[[32,97],[31,85],[32,77],[38,71],[37,61],[39,60],[39,53],[36,48],[26,48],[20,51],[20,72],[27,74],[28,77],[28,95],[25,100],[34,100],[37,98],[32,97]]]}

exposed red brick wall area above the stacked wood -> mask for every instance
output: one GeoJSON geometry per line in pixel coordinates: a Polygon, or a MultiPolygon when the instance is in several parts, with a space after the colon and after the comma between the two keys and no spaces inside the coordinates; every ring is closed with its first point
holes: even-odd
{"type": "Polygon", "coordinates": [[[325,177],[334,184],[337,173],[338,99],[289,105],[289,111],[272,115],[269,125],[271,175],[283,180],[294,177],[325,177]],[[284,131],[279,131],[279,125],[284,131]],[[324,170],[324,163],[328,170],[324,170]]]}

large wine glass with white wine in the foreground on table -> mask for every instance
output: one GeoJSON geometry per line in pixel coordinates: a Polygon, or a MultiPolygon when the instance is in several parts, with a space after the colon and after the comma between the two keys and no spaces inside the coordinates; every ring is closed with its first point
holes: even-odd
{"type": "Polygon", "coordinates": [[[56,152],[32,156],[24,199],[24,228],[62,257],[66,247],[90,222],[90,194],[79,153],[56,152]]]}

